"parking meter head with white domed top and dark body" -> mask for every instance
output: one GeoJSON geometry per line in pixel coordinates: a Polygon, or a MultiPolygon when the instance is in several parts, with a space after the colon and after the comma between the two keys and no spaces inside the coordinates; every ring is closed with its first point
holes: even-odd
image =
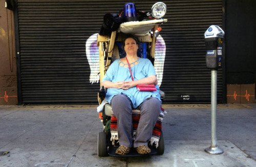
{"type": "Polygon", "coordinates": [[[224,31],[215,25],[211,25],[204,33],[205,45],[206,45],[206,67],[216,70],[222,67],[223,57],[223,38],[224,31]]]}

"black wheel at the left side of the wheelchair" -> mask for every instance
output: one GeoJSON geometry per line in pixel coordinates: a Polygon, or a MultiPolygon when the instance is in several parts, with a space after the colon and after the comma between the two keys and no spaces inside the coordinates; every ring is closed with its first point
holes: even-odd
{"type": "Polygon", "coordinates": [[[105,157],[108,156],[108,148],[106,145],[106,133],[99,132],[98,134],[98,156],[105,157]]]}

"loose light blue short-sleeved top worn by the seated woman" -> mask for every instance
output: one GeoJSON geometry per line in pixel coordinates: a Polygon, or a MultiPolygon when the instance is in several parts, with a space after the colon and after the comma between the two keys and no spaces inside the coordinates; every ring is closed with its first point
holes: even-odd
{"type": "MultiPolygon", "coordinates": [[[[151,75],[156,75],[155,68],[150,60],[145,58],[139,58],[138,64],[134,63],[131,67],[134,80],[139,80],[142,78],[147,78],[151,75]]],[[[120,63],[120,59],[116,59],[109,69],[106,71],[106,74],[102,80],[103,81],[132,81],[131,73],[129,67],[123,67],[124,63],[120,63]],[[121,64],[121,65],[120,65],[121,64]]],[[[130,63],[130,64],[133,64],[130,63]]],[[[118,89],[118,88],[108,88],[106,92],[106,100],[111,103],[111,99],[116,94],[125,94],[130,98],[133,104],[133,108],[138,107],[145,99],[150,98],[151,96],[157,98],[161,102],[159,87],[156,85],[156,91],[139,91],[136,87],[129,88],[127,90],[118,89]]]]}

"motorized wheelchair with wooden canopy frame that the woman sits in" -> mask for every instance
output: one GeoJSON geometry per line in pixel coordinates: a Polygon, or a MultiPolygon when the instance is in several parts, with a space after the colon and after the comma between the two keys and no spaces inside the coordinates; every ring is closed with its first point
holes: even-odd
{"type": "MultiPolygon", "coordinates": [[[[148,58],[154,64],[154,56],[156,49],[156,39],[161,31],[159,29],[159,25],[163,22],[166,22],[167,19],[151,19],[145,21],[132,21],[132,22],[124,22],[120,25],[117,31],[112,31],[111,36],[100,35],[97,36],[97,46],[99,47],[99,64],[100,64],[100,83],[105,75],[106,70],[111,65],[115,59],[120,58],[122,56],[122,49],[120,47],[120,43],[126,34],[133,34],[137,36],[140,43],[142,44],[141,52],[139,53],[139,57],[148,58]],[[153,29],[153,31],[152,31],[153,29]]],[[[101,85],[100,85],[101,86],[101,85]]],[[[136,150],[131,150],[128,155],[117,155],[115,154],[116,149],[118,148],[118,140],[111,141],[111,117],[112,108],[111,104],[105,103],[105,93],[106,89],[104,87],[100,88],[98,92],[98,102],[102,106],[103,110],[99,112],[99,118],[103,122],[103,131],[98,134],[97,141],[97,151],[98,156],[140,156],[136,152],[136,150]]],[[[161,100],[164,99],[164,92],[160,90],[161,100]]],[[[163,109],[162,115],[163,117],[163,109]]],[[[133,109],[133,112],[140,112],[138,109],[133,109]]],[[[161,132],[159,141],[157,144],[153,142],[153,145],[148,145],[151,148],[151,154],[163,154],[164,153],[164,139],[163,133],[161,132]]]]}

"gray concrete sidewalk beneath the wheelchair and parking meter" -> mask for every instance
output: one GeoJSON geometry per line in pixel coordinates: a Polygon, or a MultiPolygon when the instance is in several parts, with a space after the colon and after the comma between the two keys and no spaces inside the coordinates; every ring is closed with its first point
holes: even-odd
{"type": "Polygon", "coordinates": [[[96,106],[0,106],[0,166],[256,166],[256,104],[218,105],[218,146],[210,146],[210,105],[163,105],[165,152],[98,157],[96,106]]]}

